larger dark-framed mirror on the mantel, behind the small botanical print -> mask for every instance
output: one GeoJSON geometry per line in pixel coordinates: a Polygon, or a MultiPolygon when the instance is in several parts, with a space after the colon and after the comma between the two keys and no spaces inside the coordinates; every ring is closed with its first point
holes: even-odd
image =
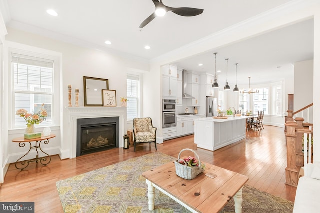
{"type": "Polygon", "coordinates": [[[83,76],[84,106],[103,106],[102,89],[109,89],[109,80],[83,76]]]}

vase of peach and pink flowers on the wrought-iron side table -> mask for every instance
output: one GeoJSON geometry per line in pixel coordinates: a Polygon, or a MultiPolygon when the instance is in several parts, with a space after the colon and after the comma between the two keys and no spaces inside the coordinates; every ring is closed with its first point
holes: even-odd
{"type": "Polygon", "coordinates": [[[46,116],[48,114],[46,110],[42,108],[43,106],[44,104],[42,104],[38,112],[34,112],[34,113],[28,113],[26,109],[18,109],[16,111],[15,114],[24,118],[26,122],[25,133],[34,133],[35,132],[34,124],[40,124],[42,121],[46,119],[46,116]]]}

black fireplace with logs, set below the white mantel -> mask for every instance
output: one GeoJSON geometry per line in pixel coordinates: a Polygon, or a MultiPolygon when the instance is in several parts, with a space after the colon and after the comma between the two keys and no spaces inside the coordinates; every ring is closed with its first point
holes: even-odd
{"type": "Polygon", "coordinates": [[[119,117],[77,119],[76,156],[119,147],[119,117]]]}

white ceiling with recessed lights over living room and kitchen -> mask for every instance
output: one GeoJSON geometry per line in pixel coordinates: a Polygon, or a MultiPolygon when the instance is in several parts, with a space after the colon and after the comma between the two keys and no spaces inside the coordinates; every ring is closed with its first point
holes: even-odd
{"type": "MultiPolygon", "coordinates": [[[[9,27],[148,61],[289,1],[292,0],[163,0],[170,7],[204,11],[194,17],[168,12],[143,29],[139,25],[154,12],[152,0],[2,0],[0,8],[9,27]],[[54,9],[59,15],[50,16],[47,9],[54,9]],[[106,40],[112,44],[105,44],[106,40]],[[144,49],[145,45],[151,49],[144,49]]],[[[216,66],[222,70],[220,84],[226,78],[225,58],[229,58],[229,84],[235,81],[234,63],[238,63],[239,85],[248,84],[248,76],[252,76],[251,84],[274,81],[275,77],[292,73],[294,62],[313,59],[313,20],[175,64],[189,71],[213,74],[213,52],[218,52],[216,66]],[[199,67],[199,63],[203,66],[199,67]]]]}

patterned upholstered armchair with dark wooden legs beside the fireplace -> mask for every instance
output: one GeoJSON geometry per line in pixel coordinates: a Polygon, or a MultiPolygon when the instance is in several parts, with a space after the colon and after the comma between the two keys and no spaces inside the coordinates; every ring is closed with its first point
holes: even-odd
{"type": "Polygon", "coordinates": [[[156,127],[152,125],[151,118],[134,118],[133,119],[133,141],[134,152],[137,143],[154,142],[156,149],[156,127]]]}

